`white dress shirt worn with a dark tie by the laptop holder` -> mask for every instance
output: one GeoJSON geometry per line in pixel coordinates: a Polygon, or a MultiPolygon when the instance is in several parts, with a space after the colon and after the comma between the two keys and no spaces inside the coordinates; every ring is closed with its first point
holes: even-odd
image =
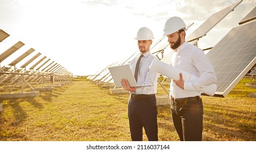
{"type": "MultiPolygon", "coordinates": [[[[136,67],[138,59],[139,59],[139,57],[130,61],[130,67],[132,68],[133,75],[135,73],[135,67],[136,67]]],[[[149,52],[149,51],[143,54],[143,56],[140,60],[137,84],[138,85],[152,85],[152,86],[137,87],[135,94],[155,94],[155,93],[157,93],[157,80],[158,80],[159,74],[157,72],[154,72],[151,69],[149,69],[149,66],[151,65],[151,63],[154,59],[157,59],[157,58],[155,58],[155,56],[153,56],[151,54],[151,52],[149,52]]]]}

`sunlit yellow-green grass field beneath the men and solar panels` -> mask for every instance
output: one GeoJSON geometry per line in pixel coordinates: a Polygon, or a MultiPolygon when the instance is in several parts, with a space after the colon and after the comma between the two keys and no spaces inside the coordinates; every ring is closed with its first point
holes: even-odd
{"type": "MultiPolygon", "coordinates": [[[[256,141],[256,98],[248,97],[256,89],[249,81],[226,98],[202,96],[203,141],[256,141]]],[[[160,86],[158,94],[165,94],[160,86]]],[[[0,99],[0,141],[130,141],[128,96],[74,79],[38,97],[0,99]]],[[[170,105],[158,106],[158,130],[159,141],[179,140],[170,105]]]]}

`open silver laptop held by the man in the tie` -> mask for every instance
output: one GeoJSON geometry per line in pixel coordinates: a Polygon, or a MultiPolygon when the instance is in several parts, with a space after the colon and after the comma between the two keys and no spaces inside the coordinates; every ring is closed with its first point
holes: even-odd
{"type": "Polygon", "coordinates": [[[121,83],[122,79],[127,79],[131,87],[152,86],[152,85],[138,85],[132,73],[132,69],[130,68],[129,65],[109,67],[109,71],[115,82],[116,87],[122,87],[122,83],[121,83]]]}

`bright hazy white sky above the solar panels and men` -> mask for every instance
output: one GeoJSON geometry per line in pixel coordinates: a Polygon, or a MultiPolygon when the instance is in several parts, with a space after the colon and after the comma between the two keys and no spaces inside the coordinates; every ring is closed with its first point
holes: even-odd
{"type": "MultiPolygon", "coordinates": [[[[73,75],[95,74],[139,52],[134,40],[139,28],[151,29],[154,42],[163,35],[166,20],[178,16],[187,25],[193,23],[186,31],[188,36],[211,15],[239,1],[0,0],[0,29],[10,35],[0,42],[0,54],[17,41],[25,44],[5,59],[1,67],[34,48],[16,68],[41,53],[28,67],[46,56],[43,62],[51,59],[48,63],[54,61],[73,75]]],[[[243,0],[199,40],[198,47],[216,45],[255,6],[256,0],[243,0]]]]}

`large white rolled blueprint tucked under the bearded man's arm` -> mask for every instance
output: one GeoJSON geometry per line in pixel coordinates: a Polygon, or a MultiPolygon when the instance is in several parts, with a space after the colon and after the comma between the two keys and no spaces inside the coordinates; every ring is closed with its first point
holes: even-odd
{"type": "MultiPolygon", "coordinates": [[[[149,66],[149,69],[152,69],[153,71],[160,73],[162,75],[165,75],[166,77],[173,80],[179,80],[179,73],[182,73],[182,77],[184,81],[191,81],[193,79],[198,78],[195,75],[185,72],[182,69],[179,69],[177,67],[168,65],[165,62],[162,62],[158,59],[154,59],[152,61],[151,65],[149,66]]],[[[205,94],[208,94],[209,96],[213,96],[216,92],[216,89],[217,89],[217,85],[212,84],[202,88],[200,91],[205,94]]]]}

